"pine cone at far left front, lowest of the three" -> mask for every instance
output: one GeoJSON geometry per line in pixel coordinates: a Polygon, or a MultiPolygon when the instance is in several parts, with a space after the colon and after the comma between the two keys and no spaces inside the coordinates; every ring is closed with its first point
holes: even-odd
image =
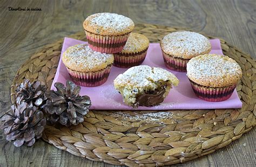
{"type": "Polygon", "coordinates": [[[11,113],[4,115],[1,129],[7,135],[6,140],[14,141],[16,147],[23,144],[31,146],[42,136],[45,124],[43,112],[32,103],[28,106],[28,103],[22,102],[17,107],[12,105],[11,113]]]}

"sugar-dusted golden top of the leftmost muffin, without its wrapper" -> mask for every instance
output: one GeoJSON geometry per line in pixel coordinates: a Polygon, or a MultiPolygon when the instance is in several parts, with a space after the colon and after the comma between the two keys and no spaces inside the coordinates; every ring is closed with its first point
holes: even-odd
{"type": "Polygon", "coordinates": [[[62,61],[73,71],[95,72],[112,64],[114,56],[93,51],[87,44],[78,44],[69,47],[63,53],[62,61]]]}

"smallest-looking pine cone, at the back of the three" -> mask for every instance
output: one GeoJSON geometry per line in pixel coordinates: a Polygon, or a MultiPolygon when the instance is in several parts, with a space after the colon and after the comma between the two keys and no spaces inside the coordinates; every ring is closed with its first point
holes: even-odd
{"type": "Polygon", "coordinates": [[[40,81],[30,83],[28,79],[24,79],[20,85],[17,85],[16,102],[17,104],[21,104],[23,101],[28,104],[32,102],[33,106],[43,106],[46,101],[44,97],[46,89],[47,87],[40,81]]]}

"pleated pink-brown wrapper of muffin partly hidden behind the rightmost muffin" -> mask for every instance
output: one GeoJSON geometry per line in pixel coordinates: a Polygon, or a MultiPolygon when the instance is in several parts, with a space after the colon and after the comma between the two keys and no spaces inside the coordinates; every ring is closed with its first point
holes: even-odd
{"type": "Polygon", "coordinates": [[[187,71],[187,62],[190,59],[181,59],[181,58],[175,58],[169,54],[166,54],[164,51],[162,51],[163,57],[164,57],[164,63],[165,66],[169,69],[172,69],[173,71],[178,72],[186,72],[187,71]]]}

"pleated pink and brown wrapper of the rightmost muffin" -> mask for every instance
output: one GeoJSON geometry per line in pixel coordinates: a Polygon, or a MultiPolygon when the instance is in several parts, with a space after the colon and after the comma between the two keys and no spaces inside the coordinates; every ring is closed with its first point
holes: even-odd
{"type": "Polygon", "coordinates": [[[227,100],[233,94],[234,89],[237,86],[232,85],[227,87],[214,88],[200,86],[197,83],[194,83],[193,81],[190,81],[190,83],[194,93],[198,96],[198,98],[212,102],[227,100]]]}

